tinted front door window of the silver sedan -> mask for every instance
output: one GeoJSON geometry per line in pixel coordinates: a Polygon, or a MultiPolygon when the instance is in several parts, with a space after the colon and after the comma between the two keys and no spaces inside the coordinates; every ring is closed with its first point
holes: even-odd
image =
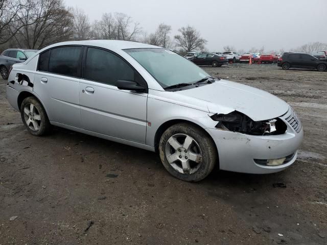
{"type": "Polygon", "coordinates": [[[115,86],[118,80],[139,82],[138,76],[119,56],[100,48],[87,48],[85,79],[115,86]]]}

